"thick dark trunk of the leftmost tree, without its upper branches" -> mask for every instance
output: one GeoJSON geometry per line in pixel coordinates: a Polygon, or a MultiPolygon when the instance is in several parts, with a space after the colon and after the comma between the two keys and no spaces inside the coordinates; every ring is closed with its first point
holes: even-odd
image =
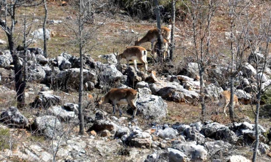
{"type": "Polygon", "coordinates": [[[25,82],[23,81],[23,74],[22,74],[22,66],[19,62],[19,56],[18,53],[15,51],[14,48],[14,41],[12,38],[12,35],[8,35],[8,45],[10,54],[13,59],[14,64],[14,73],[15,73],[15,90],[16,90],[16,101],[17,101],[17,108],[23,108],[25,105],[24,102],[24,88],[25,88],[25,82]]]}

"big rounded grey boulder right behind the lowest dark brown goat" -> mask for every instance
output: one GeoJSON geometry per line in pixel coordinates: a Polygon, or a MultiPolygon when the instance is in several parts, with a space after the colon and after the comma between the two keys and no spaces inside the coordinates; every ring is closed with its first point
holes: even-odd
{"type": "Polygon", "coordinates": [[[145,119],[161,118],[167,115],[167,103],[159,96],[140,95],[136,107],[136,115],[142,115],[145,119]]]}

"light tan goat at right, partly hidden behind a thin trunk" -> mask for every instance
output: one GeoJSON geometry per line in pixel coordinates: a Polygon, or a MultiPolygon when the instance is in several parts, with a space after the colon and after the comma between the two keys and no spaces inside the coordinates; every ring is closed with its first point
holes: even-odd
{"type": "MultiPolygon", "coordinates": [[[[220,107],[223,107],[223,113],[226,114],[226,107],[230,102],[231,92],[229,90],[224,90],[219,95],[219,103],[217,106],[217,113],[219,113],[220,107]]],[[[238,108],[239,112],[242,112],[242,105],[239,103],[236,95],[233,96],[233,105],[238,108]]]]}

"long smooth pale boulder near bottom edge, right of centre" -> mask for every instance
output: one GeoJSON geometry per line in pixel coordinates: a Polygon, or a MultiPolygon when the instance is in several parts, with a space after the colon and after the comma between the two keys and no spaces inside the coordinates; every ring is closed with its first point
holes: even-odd
{"type": "Polygon", "coordinates": [[[175,140],[172,142],[172,148],[182,151],[191,161],[204,161],[207,158],[207,151],[202,145],[195,145],[192,142],[182,142],[175,140]]]}

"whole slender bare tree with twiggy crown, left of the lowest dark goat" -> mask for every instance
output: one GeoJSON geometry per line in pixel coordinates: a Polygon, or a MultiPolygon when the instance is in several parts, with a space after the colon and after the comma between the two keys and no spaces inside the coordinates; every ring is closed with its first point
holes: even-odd
{"type": "MultiPolygon", "coordinates": [[[[70,26],[67,24],[67,27],[73,31],[75,39],[72,42],[77,44],[79,47],[79,56],[80,56],[80,78],[79,78],[79,101],[78,101],[78,118],[79,118],[79,134],[84,134],[84,116],[83,116],[83,66],[84,60],[83,56],[93,50],[95,44],[90,44],[89,41],[95,38],[95,32],[99,29],[105,22],[106,18],[101,18],[98,25],[88,25],[90,22],[94,23],[94,13],[97,11],[103,11],[104,2],[97,3],[94,0],[83,1],[76,0],[73,1],[74,9],[76,10],[76,20],[73,21],[73,24],[76,25],[70,26]]],[[[100,12],[106,17],[106,12],[100,12]]]]}

